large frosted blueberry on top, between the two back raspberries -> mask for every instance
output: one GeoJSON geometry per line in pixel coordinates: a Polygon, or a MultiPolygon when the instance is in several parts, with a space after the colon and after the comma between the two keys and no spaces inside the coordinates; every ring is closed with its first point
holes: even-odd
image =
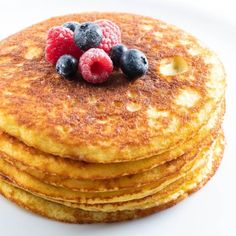
{"type": "Polygon", "coordinates": [[[84,51],[96,48],[102,41],[102,30],[93,22],[85,22],[76,27],[74,41],[84,51]]]}

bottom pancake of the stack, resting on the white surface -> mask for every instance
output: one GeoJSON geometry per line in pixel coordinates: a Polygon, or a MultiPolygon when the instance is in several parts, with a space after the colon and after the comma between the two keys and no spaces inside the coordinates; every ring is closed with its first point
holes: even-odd
{"type": "MultiPolygon", "coordinates": [[[[0,180],[0,192],[7,199],[15,202],[27,210],[48,217],[50,219],[59,220],[70,223],[104,223],[116,222],[123,220],[131,220],[134,218],[143,217],[154,212],[163,210],[180,200],[186,198],[189,194],[201,188],[215,173],[219,166],[223,155],[223,144],[218,147],[218,151],[213,155],[213,161],[208,166],[208,171],[204,174],[200,173],[191,180],[187,180],[187,184],[171,186],[166,190],[163,196],[156,200],[154,207],[136,210],[126,210],[117,212],[98,212],[98,211],[84,211],[81,209],[74,209],[63,206],[58,203],[50,202],[40,197],[36,197],[24,190],[18,189],[7,183],[7,180],[0,180]]],[[[155,201],[155,199],[153,199],[155,201]]]]}

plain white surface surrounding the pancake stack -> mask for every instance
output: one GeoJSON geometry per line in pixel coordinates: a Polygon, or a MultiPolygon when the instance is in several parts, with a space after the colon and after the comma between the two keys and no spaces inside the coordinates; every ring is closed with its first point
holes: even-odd
{"type": "Polygon", "coordinates": [[[236,17],[233,1],[0,1],[0,38],[51,17],[79,11],[126,11],[160,18],[184,28],[214,49],[228,74],[225,156],[215,177],[177,206],[119,224],[70,225],[28,213],[0,197],[0,235],[236,235],[236,17]]]}

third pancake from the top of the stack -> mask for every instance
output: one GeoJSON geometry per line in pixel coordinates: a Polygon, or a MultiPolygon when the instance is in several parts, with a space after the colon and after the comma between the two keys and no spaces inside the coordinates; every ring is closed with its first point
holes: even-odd
{"type": "MultiPolygon", "coordinates": [[[[219,120],[219,125],[220,125],[219,120]]],[[[202,147],[208,147],[211,145],[213,140],[216,138],[219,128],[215,128],[215,132],[212,134],[208,134],[206,140],[203,140],[201,143],[201,147],[196,146],[193,148],[191,152],[188,152],[181,157],[167,162],[165,164],[159,165],[151,170],[148,170],[144,173],[139,173],[135,175],[129,175],[125,177],[108,179],[108,180],[75,180],[75,179],[64,179],[59,176],[53,176],[48,174],[43,174],[42,172],[38,172],[35,170],[29,170],[28,167],[22,166],[20,162],[9,162],[8,157],[6,155],[2,155],[1,157],[11,163],[20,171],[24,171],[29,175],[39,179],[40,181],[58,186],[64,187],[73,191],[81,191],[81,192],[107,192],[107,191],[117,191],[123,189],[130,189],[134,187],[141,187],[150,183],[154,183],[156,181],[160,182],[163,179],[171,177],[176,172],[182,172],[189,167],[189,162],[192,161],[199,150],[202,147]]]]}

